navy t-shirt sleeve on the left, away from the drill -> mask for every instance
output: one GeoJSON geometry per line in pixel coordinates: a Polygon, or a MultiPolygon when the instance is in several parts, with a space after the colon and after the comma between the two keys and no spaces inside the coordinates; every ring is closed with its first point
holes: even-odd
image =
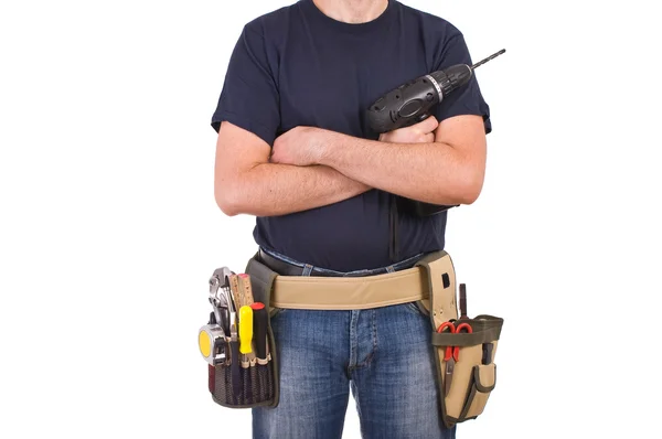
{"type": "Polygon", "coordinates": [[[270,147],[280,126],[279,97],[267,46],[256,22],[242,31],[233,50],[212,127],[228,121],[261,138],[270,147]]]}

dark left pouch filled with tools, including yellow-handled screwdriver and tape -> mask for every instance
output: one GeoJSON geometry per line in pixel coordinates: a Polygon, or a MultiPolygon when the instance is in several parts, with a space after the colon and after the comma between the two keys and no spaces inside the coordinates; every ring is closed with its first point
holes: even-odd
{"type": "MultiPolygon", "coordinates": [[[[255,275],[255,270],[250,272],[255,275]]],[[[278,405],[276,344],[269,315],[269,285],[275,274],[261,274],[265,276],[237,275],[223,267],[210,279],[213,312],[199,331],[199,347],[209,363],[209,390],[224,407],[278,405]]]]}

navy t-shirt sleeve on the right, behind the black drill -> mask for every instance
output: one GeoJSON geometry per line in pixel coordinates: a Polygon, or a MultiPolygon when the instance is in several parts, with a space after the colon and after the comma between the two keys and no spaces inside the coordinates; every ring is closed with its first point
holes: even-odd
{"type": "MultiPolygon", "coordinates": [[[[441,47],[441,53],[437,58],[435,71],[448,68],[456,64],[473,64],[465,38],[457,30],[455,30],[450,39],[441,47]]],[[[445,97],[445,99],[437,105],[435,111],[435,117],[439,122],[444,119],[461,115],[482,116],[485,133],[492,131],[490,107],[483,99],[476,74],[471,75],[471,79],[468,84],[453,90],[448,97],[445,97]]]]}

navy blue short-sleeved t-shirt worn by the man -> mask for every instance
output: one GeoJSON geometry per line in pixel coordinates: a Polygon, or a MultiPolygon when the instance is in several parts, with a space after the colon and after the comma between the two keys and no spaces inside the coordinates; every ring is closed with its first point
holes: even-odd
{"type": "MultiPolygon", "coordinates": [[[[312,0],[259,17],[236,43],[212,118],[274,139],[297,126],[314,126],[377,140],[365,110],[383,94],[420,75],[471,57],[448,21],[389,0],[377,19],[335,21],[312,0]]],[[[476,76],[437,106],[441,121],[480,115],[491,131],[489,107],[476,76]]],[[[439,169],[444,172],[444,169],[439,169]]],[[[257,217],[258,245],[317,267],[340,271],[392,264],[388,194],[371,190],[306,212],[257,217]]],[[[450,211],[452,212],[452,211],[450,211]]],[[[398,220],[401,259],[444,249],[447,213],[398,220]]]]}

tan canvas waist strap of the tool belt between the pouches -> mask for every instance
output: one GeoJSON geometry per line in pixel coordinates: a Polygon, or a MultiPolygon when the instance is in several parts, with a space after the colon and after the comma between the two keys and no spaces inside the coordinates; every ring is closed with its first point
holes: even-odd
{"type": "Polygon", "coordinates": [[[369,277],[277,276],[271,307],[356,310],[424,300],[428,281],[420,267],[369,277]]]}

